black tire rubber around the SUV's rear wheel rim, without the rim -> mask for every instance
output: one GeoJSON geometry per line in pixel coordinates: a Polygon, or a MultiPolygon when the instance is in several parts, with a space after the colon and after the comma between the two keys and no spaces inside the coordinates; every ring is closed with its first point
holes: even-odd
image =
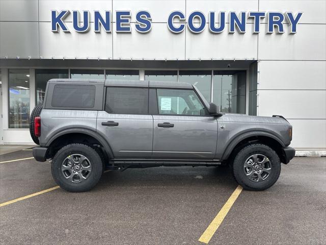
{"type": "Polygon", "coordinates": [[[51,173],[57,184],[70,192],[84,192],[92,189],[100,180],[103,173],[103,163],[97,151],[86,144],[68,144],[61,148],[52,160],[51,173]],[[62,173],[64,160],[73,154],[81,154],[87,157],[92,164],[90,176],[83,182],[73,183],[66,179],[62,173]]]}

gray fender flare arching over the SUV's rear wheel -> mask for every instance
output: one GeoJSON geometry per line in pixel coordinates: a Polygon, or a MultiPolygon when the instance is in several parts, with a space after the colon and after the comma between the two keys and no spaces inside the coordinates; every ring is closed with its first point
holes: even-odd
{"type": "Polygon", "coordinates": [[[45,146],[48,147],[51,145],[51,143],[53,141],[55,141],[60,136],[63,136],[65,134],[71,134],[71,133],[87,134],[87,135],[97,139],[103,145],[106,155],[109,158],[114,158],[110,144],[98,133],[96,133],[92,130],[89,130],[89,129],[85,129],[85,128],[71,128],[71,129],[65,129],[60,132],[55,132],[53,135],[51,135],[50,139],[46,142],[45,146]]]}

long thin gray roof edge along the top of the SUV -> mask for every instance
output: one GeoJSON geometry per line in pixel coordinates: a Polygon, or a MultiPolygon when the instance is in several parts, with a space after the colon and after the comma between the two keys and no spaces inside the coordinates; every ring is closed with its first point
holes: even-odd
{"type": "Polygon", "coordinates": [[[104,83],[104,86],[120,87],[155,87],[155,88],[186,88],[192,89],[189,83],[167,82],[167,81],[140,81],[140,80],[99,80],[99,79],[51,79],[49,82],[84,82],[84,83],[104,83]]]}

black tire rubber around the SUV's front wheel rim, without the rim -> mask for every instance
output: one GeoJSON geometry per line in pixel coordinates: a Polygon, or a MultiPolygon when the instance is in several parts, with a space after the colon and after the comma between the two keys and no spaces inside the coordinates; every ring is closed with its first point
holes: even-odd
{"type": "Polygon", "coordinates": [[[281,173],[281,161],[277,153],[269,146],[255,143],[244,146],[236,155],[232,164],[233,176],[246,190],[265,190],[271,187],[278,180],[281,173]],[[244,173],[244,162],[254,154],[262,154],[266,156],[271,164],[271,173],[262,182],[254,182],[250,180],[244,173]]]}

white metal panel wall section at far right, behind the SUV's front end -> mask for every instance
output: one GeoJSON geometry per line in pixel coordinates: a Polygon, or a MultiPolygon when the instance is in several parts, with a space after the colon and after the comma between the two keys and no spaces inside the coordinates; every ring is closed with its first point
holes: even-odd
{"type": "Polygon", "coordinates": [[[325,151],[326,2],[259,0],[259,10],[303,16],[296,34],[288,35],[288,28],[284,34],[259,34],[257,114],[291,118],[294,148],[325,151]]]}

